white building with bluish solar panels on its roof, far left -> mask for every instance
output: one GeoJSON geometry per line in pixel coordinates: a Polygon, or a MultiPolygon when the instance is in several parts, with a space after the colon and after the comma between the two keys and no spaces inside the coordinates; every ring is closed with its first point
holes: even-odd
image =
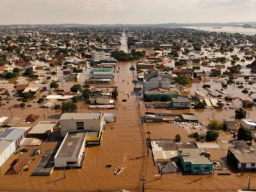
{"type": "Polygon", "coordinates": [[[22,140],[26,138],[27,132],[26,129],[6,129],[2,134],[0,134],[0,140],[8,140],[8,139],[14,139],[15,142],[15,148],[17,148],[22,140]]]}

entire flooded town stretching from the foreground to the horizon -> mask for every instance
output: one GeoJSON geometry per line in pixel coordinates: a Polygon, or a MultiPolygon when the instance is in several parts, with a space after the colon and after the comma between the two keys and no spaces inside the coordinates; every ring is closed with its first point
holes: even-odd
{"type": "Polygon", "coordinates": [[[256,190],[255,51],[200,28],[3,26],[0,191],[256,190]]]}

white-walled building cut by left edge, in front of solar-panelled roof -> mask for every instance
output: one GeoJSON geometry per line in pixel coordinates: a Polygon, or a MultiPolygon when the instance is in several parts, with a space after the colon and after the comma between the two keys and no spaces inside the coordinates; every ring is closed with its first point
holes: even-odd
{"type": "Polygon", "coordinates": [[[15,150],[14,138],[0,138],[0,167],[13,154],[13,152],[15,152],[15,150]]]}

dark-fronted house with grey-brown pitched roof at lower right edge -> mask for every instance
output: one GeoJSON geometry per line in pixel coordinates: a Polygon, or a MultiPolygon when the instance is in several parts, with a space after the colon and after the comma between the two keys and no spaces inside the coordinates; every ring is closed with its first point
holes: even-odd
{"type": "Polygon", "coordinates": [[[233,141],[235,148],[228,148],[227,161],[238,170],[256,170],[255,147],[248,146],[245,141],[233,141]]]}

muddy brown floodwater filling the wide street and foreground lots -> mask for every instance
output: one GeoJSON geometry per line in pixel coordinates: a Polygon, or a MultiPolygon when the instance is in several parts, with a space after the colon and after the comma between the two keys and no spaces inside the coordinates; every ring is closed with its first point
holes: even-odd
{"type": "MultiPolygon", "coordinates": [[[[22,172],[17,175],[4,175],[6,170],[10,168],[10,164],[14,159],[29,157],[29,152],[12,155],[6,163],[1,167],[0,172],[0,190],[1,191],[119,191],[126,189],[128,191],[142,191],[143,173],[145,175],[145,191],[237,191],[238,189],[246,189],[248,186],[248,174],[220,176],[214,172],[214,175],[206,175],[203,179],[200,176],[182,176],[176,174],[163,175],[162,179],[155,180],[154,175],[158,174],[157,167],[154,166],[152,152],[149,149],[147,155],[146,139],[169,138],[174,139],[176,134],[182,135],[183,141],[191,141],[191,138],[186,136],[186,131],[181,127],[175,127],[172,124],[141,124],[141,116],[145,112],[163,112],[163,113],[194,113],[201,122],[207,124],[208,118],[214,117],[219,120],[234,119],[234,109],[211,110],[211,109],[186,109],[186,110],[166,110],[166,109],[146,109],[145,103],[140,96],[132,94],[127,97],[127,93],[132,93],[134,84],[132,80],[136,77],[136,72],[129,70],[134,65],[134,62],[119,63],[120,72],[115,74],[115,81],[112,86],[118,86],[119,95],[116,100],[118,109],[104,110],[104,112],[115,113],[116,122],[108,124],[104,131],[102,145],[98,147],[87,148],[87,154],[84,159],[83,168],[77,170],[67,170],[66,179],[63,179],[63,170],[54,170],[51,176],[47,177],[31,177],[31,173],[40,160],[40,156],[35,157],[35,161],[28,163],[28,172],[22,172]],[[124,82],[123,82],[124,79],[124,82]],[[129,84],[128,84],[129,82],[129,84]],[[127,102],[120,102],[127,99],[127,102]],[[111,129],[113,127],[113,129],[111,129]],[[150,131],[151,134],[147,134],[150,131]],[[111,168],[105,168],[106,164],[111,164],[111,168]],[[121,168],[123,170],[119,175],[114,175],[115,171],[121,168]]],[[[85,74],[88,74],[86,71],[85,74]]],[[[202,89],[202,84],[192,84],[188,91],[191,94],[195,90],[207,93],[202,89]]],[[[212,89],[220,89],[221,84],[211,83],[212,89]]],[[[63,83],[63,88],[69,90],[74,83],[63,83]]],[[[11,88],[13,84],[4,84],[3,87],[11,88]]],[[[97,85],[96,85],[97,86],[97,85]]],[[[137,86],[142,86],[139,84],[137,86]]],[[[62,88],[62,87],[61,87],[62,88]]],[[[235,94],[234,90],[238,88],[228,86],[225,90],[227,94],[235,94]]],[[[238,93],[238,92],[236,92],[238,93]]],[[[248,98],[247,95],[239,93],[238,97],[248,98]]],[[[10,102],[16,104],[17,101],[10,102]]],[[[39,109],[38,104],[32,103],[31,108],[24,109],[7,109],[1,108],[0,115],[21,117],[22,121],[17,126],[33,126],[36,124],[28,124],[24,122],[27,115],[34,113],[40,115],[38,120],[58,120],[60,118],[59,110],[39,109]]],[[[240,106],[239,100],[234,101],[234,105],[240,106]]],[[[83,106],[78,103],[79,112],[89,112],[97,110],[89,110],[88,106],[83,106]]],[[[250,116],[256,115],[255,109],[250,111],[250,116]]],[[[38,122],[37,120],[37,122],[38,122]]],[[[221,132],[220,139],[232,140],[232,135],[221,132]]],[[[51,139],[42,143],[39,148],[42,154],[49,149],[60,145],[51,139]]],[[[253,143],[255,145],[255,143],[253,143]]],[[[228,146],[221,145],[223,150],[228,146]]],[[[26,147],[30,151],[38,147],[26,147]]],[[[225,157],[225,151],[220,154],[211,150],[212,156],[218,159],[225,157]]],[[[252,180],[255,180],[255,174],[252,175],[252,180]]],[[[256,189],[256,182],[251,182],[251,189],[256,189]]]]}

